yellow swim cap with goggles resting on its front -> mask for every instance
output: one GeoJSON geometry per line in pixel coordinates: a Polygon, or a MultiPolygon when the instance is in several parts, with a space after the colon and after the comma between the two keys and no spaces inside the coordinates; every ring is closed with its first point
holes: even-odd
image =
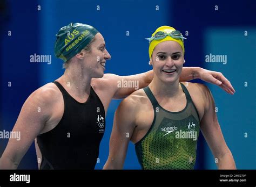
{"type": "Polygon", "coordinates": [[[154,33],[151,36],[152,36],[151,38],[147,38],[147,40],[150,40],[150,46],[149,46],[150,59],[154,51],[154,48],[163,41],[177,41],[180,44],[181,48],[183,49],[183,54],[185,54],[185,48],[184,48],[184,42],[183,42],[184,37],[179,31],[176,31],[175,28],[170,26],[160,26],[157,28],[156,31],[154,31],[154,33]],[[161,31],[162,33],[163,32],[165,33],[164,37],[156,36],[156,33],[158,33],[159,31],[161,31]]]}

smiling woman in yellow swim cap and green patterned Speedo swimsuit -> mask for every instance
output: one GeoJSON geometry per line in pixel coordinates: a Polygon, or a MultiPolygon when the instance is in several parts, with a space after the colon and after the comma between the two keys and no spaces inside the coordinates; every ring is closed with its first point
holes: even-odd
{"type": "Polygon", "coordinates": [[[123,168],[129,141],[142,169],[194,169],[200,130],[218,159],[218,168],[235,169],[210,90],[203,84],[180,82],[183,35],[161,26],[147,39],[153,80],[120,103],[104,169],[123,168]]]}

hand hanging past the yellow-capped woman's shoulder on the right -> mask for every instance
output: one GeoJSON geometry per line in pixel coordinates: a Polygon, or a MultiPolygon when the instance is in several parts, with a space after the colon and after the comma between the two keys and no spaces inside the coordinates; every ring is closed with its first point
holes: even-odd
{"type": "Polygon", "coordinates": [[[210,71],[207,69],[200,68],[199,70],[199,77],[201,80],[216,84],[223,90],[225,90],[227,93],[230,93],[231,95],[234,95],[234,88],[232,87],[230,81],[227,80],[227,78],[220,72],[217,71],[210,71]]]}

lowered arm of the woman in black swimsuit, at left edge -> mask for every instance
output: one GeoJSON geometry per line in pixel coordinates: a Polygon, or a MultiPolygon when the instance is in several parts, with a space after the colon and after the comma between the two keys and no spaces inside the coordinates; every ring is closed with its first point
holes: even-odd
{"type": "Polygon", "coordinates": [[[0,169],[17,169],[36,136],[50,118],[52,92],[38,89],[22,106],[12,132],[20,134],[19,139],[9,139],[0,159],[0,169]]]}

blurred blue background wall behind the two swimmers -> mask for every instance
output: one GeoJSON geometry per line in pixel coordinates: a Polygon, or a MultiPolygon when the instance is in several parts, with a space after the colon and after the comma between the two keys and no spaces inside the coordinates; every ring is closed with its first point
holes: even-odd
{"type": "MultiPolygon", "coordinates": [[[[53,53],[55,34],[70,22],[89,24],[103,34],[112,56],[105,73],[143,73],[148,65],[149,38],[157,27],[169,25],[185,40],[184,66],[220,71],[231,81],[235,94],[215,85],[212,91],[224,138],[238,169],[256,169],[255,138],[255,1],[0,1],[0,131],[11,131],[26,98],[64,73],[53,53]],[[30,55],[51,55],[51,63],[32,63],[30,55]],[[227,61],[206,62],[206,55],[226,55],[227,61]],[[11,86],[10,86],[11,85],[11,86]]],[[[203,83],[200,80],[193,82],[203,83]]],[[[120,100],[112,100],[100,145],[102,169],[109,153],[113,114],[120,100]]],[[[0,139],[0,155],[8,140],[0,139]]],[[[211,150],[200,133],[195,169],[217,169],[211,150]]],[[[68,161],[67,161],[68,162],[68,161]]],[[[18,169],[37,169],[35,145],[18,169]]],[[[124,169],[140,169],[130,143],[124,169]]]]}

